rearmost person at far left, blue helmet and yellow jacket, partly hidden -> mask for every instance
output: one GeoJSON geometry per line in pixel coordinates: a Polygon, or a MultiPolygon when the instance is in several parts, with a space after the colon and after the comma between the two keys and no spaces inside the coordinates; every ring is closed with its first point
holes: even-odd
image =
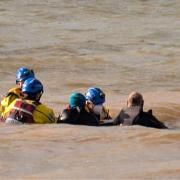
{"type": "Polygon", "coordinates": [[[16,71],[16,86],[11,88],[7,95],[2,99],[0,104],[0,114],[3,115],[6,108],[11,104],[15,99],[22,98],[23,93],[21,91],[24,81],[28,78],[34,77],[34,72],[31,69],[26,67],[20,67],[16,71]]]}

